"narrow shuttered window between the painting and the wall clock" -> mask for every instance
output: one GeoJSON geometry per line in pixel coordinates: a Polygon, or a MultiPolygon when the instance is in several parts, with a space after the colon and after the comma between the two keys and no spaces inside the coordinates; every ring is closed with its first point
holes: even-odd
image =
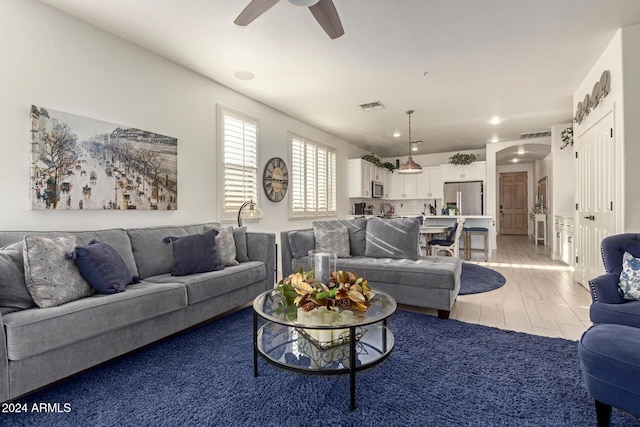
{"type": "Polygon", "coordinates": [[[223,161],[222,218],[236,217],[242,203],[258,201],[258,121],[218,107],[220,156],[223,161]]]}

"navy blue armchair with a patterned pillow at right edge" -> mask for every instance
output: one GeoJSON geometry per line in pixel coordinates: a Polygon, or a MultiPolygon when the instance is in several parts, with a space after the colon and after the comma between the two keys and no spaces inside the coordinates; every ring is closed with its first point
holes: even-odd
{"type": "Polygon", "coordinates": [[[625,300],[618,292],[622,256],[629,252],[640,258],[640,234],[606,237],[601,245],[605,274],[589,281],[592,304],[589,316],[594,324],[612,323],[640,328],[640,301],[625,300]]]}

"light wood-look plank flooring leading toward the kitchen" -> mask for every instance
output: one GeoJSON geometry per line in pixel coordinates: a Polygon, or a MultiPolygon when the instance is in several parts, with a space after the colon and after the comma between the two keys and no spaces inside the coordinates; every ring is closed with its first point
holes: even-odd
{"type": "MultiPolygon", "coordinates": [[[[573,281],[573,271],[551,259],[550,246],[534,245],[527,236],[498,236],[489,262],[468,262],[499,271],[505,285],[481,294],[459,295],[451,318],[463,322],[549,337],[578,340],[591,326],[591,296],[573,281]]],[[[413,307],[403,306],[412,310],[413,307]]],[[[435,310],[418,310],[435,315],[435,310]]]]}

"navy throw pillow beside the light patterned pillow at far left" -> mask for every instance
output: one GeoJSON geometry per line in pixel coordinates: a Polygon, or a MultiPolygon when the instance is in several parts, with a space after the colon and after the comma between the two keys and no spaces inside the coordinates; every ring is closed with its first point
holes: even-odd
{"type": "Polygon", "coordinates": [[[76,246],[66,257],[75,261],[82,277],[100,294],[124,292],[127,285],[140,281],[131,277],[115,249],[97,240],[92,240],[87,246],[76,246]]]}

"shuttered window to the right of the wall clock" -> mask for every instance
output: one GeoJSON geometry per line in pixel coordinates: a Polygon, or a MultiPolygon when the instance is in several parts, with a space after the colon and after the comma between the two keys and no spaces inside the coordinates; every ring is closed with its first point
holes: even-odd
{"type": "Polygon", "coordinates": [[[336,214],[336,150],[289,134],[292,218],[336,214]]]}

